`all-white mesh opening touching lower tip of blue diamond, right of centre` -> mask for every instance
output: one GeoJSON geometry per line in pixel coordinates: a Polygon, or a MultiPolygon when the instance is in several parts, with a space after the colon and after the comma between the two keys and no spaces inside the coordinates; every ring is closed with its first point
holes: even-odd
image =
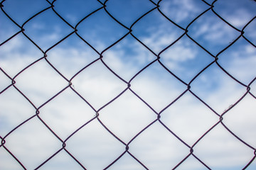
{"type": "Polygon", "coordinates": [[[192,146],[218,122],[218,116],[192,94],[186,93],[161,113],[161,121],[184,142],[192,146]]]}

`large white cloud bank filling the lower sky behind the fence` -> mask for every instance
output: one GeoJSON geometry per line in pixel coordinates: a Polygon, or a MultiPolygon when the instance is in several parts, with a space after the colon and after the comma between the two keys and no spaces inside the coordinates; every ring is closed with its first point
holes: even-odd
{"type": "MultiPolygon", "coordinates": [[[[189,3],[188,1],[186,2],[189,3]]],[[[213,32],[221,30],[220,26],[210,28],[210,23],[206,23],[205,27],[202,32],[207,31],[208,28],[212,29],[213,32]]],[[[144,40],[153,46],[155,45],[155,50],[161,50],[162,46],[169,45],[169,40],[174,39],[173,36],[173,34],[156,33],[151,37],[144,38],[144,40]]],[[[41,52],[33,53],[30,50],[28,52],[14,50],[16,47],[22,48],[23,45],[26,45],[26,43],[22,44],[20,39],[14,38],[14,40],[10,41],[9,45],[3,46],[4,57],[1,58],[0,64],[12,77],[42,55],[41,52]]],[[[186,44],[182,40],[177,45],[174,50],[170,51],[169,60],[176,62],[189,61],[197,54],[193,50],[193,46],[186,44]],[[178,55],[179,57],[176,57],[178,55]]],[[[133,44],[132,47],[134,47],[137,55],[142,55],[141,58],[134,60],[135,62],[145,64],[151,60],[151,57],[148,57],[146,52],[139,52],[144,47],[137,46],[136,44],[133,44]]],[[[247,54],[254,54],[252,51],[251,47],[245,47],[247,54]]],[[[64,75],[70,78],[82,66],[85,66],[94,59],[94,57],[83,59],[84,56],[91,55],[94,54],[92,52],[82,52],[80,49],[73,47],[65,49],[56,47],[55,51],[49,52],[48,58],[56,67],[61,66],[60,72],[63,72],[64,75]],[[63,55],[70,55],[72,57],[63,58],[63,55]]],[[[134,70],[137,70],[135,68],[137,66],[133,62],[125,62],[122,57],[126,55],[125,52],[122,52],[122,49],[112,50],[108,53],[106,52],[106,57],[103,60],[112,62],[112,67],[119,70],[120,74],[128,79],[128,77],[131,78],[134,75],[134,70]]],[[[247,60],[233,60],[233,62],[245,61],[245,64],[248,64],[254,62],[253,56],[247,57],[247,60]]],[[[154,57],[152,58],[154,59],[154,57]]],[[[142,96],[156,111],[161,111],[161,109],[186,89],[186,86],[181,86],[181,84],[177,83],[178,81],[172,81],[173,79],[170,78],[171,75],[169,73],[163,71],[162,68],[159,69],[158,63],[146,70],[131,82],[131,88],[139,96],[142,96]]],[[[186,72],[188,71],[186,70],[186,72]]],[[[236,72],[241,74],[242,77],[247,70],[243,70],[242,73],[239,70],[236,72]]],[[[199,84],[206,83],[203,85],[208,86],[208,88],[206,87],[208,94],[206,94],[207,91],[203,91],[202,84],[198,86],[198,91],[196,91],[198,93],[196,94],[203,94],[203,100],[209,103],[210,106],[214,106],[214,109],[217,106],[216,110],[218,110],[218,113],[222,113],[225,108],[228,108],[230,104],[236,101],[237,95],[242,94],[245,90],[230,83],[230,81],[223,78],[223,74],[220,75],[218,73],[213,70],[208,73],[206,72],[201,78],[198,77],[199,84]],[[219,76],[214,77],[213,75],[215,74],[219,76]],[[216,84],[207,84],[213,81],[216,84]]],[[[61,78],[45,60],[41,60],[21,73],[16,78],[16,82],[17,87],[28,98],[31,98],[32,102],[36,103],[36,106],[40,106],[48,98],[58,93],[65,86],[68,86],[68,82],[61,78]]],[[[114,77],[100,61],[83,70],[72,82],[73,88],[96,109],[104,106],[122,90],[127,88],[127,84],[114,77]]],[[[193,85],[192,83],[192,88],[193,85]]],[[[171,130],[188,142],[188,145],[193,145],[193,142],[203,132],[206,132],[210,125],[218,121],[218,116],[212,113],[206,106],[202,106],[203,104],[192,95],[186,95],[182,96],[173,106],[166,109],[162,113],[161,119],[171,130]]],[[[4,126],[1,123],[1,136],[3,137],[11,128],[14,128],[18,123],[35,114],[36,110],[14,88],[6,90],[0,97],[2,101],[0,103],[1,120],[6,120],[6,123],[9,124],[4,126]]],[[[244,102],[239,103],[238,108],[233,108],[224,116],[228,127],[234,129],[238,134],[245,132],[242,134],[242,138],[252,145],[255,144],[255,138],[253,137],[253,134],[255,134],[255,114],[253,114],[255,113],[255,101],[253,100],[254,98],[246,98],[244,102]],[[241,121],[239,121],[240,124],[238,126],[238,119],[232,115],[241,116],[240,114],[244,113],[243,108],[247,108],[248,111],[246,111],[246,116],[242,116],[239,119],[241,121]]],[[[42,119],[57,134],[60,134],[63,140],[71,132],[79,128],[82,123],[86,123],[95,116],[92,109],[81,98],[76,96],[71,89],[54,98],[53,101],[43,106],[40,111],[42,119]]],[[[106,106],[106,108],[103,108],[100,111],[99,118],[115,135],[124,140],[124,142],[128,142],[139,130],[142,130],[151,121],[155,120],[156,114],[128,90],[123,96],[117,98],[116,101],[106,106]]],[[[6,137],[6,147],[10,148],[17,155],[18,159],[31,169],[36,168],[41,162],[50,157],[51,154],[62,147],[61,145],[61,142],[36,118],[25,123],[16,132],[6,137]]],[[[86,125],[85,128],[82,128],[82,130],[68,140],[67,149],[82,164],[85,164],[85,167],[88,167],[88,169],[102,169],[102,167],[110,164],[119,154],[124,152],[125,146],[112,137],[107,130],[102,128],[97,120],[93,120],[92,123],[86,125]]],[[[149,169],[171,169],[183,157],[189,154],[188,147],[171,135],[159,122],[156,122],[142,132],[142,135],[139,135],[131,143],[129,150],[139,160],[142,160],[146,166],[149,166],[149,169]]],[[[252,149],[248,149],[238,140],[235,140],[221,125],[218,125],[218,128],[206,135],[206,138],[203,138],[194,150],[196,155],[203,161],[206,161],[212,168],[215,168],[215,166],[224,167],[227,162],[227,166],[232,166],[234,162],[235,165],[240,166],[240,164],[244,164],[247,158],[253,156],[250,154],[252,149]],[[234,152],[239,154],[234,154],[234,152]]],[[[127,161],[127,155],[121,158],[120,161],[122,159],[125,159],[124,164],[116,166],[117,169],[124,165],[131,167],[131,169],[137,169],[138,166],[136,165],[138,163],[134,163],[134,159],[128,159],[127,161]],[[135,164],[134,167],[130,165],[131,162],[135,164]]],[[[59,160],[62,160],[62,158],[59,158],[59,160]]],[[[0,166],[4,167],[6,164],[12,164],[12,159],[9,159],[9,161],[0,166]]],[[[195,165],[191,161],[188,167],[191,166],[201,167],[201,164],[195,165]]]]}

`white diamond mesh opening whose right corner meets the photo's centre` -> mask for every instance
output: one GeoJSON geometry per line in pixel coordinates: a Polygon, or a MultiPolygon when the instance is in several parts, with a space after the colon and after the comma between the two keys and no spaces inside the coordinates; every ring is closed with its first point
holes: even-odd
{"type": "Polygon", "coordinates": [[[105,106],[127,87],[100,61],[84,69],[72,82],[75,91],[95,108],[105,106]]]}

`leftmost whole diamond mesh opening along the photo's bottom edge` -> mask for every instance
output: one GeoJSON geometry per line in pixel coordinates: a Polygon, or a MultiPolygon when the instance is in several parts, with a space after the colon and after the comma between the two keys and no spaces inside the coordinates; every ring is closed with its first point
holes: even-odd
{"type": "Polygon", "coordinates": [[[12,132],[5,140],[5,146],[10,148],[28,169],[36,169],[61,148],[61,142],[35,117],[12,132]],[[34,161],[31,162],[31,159],[34,161]]]}

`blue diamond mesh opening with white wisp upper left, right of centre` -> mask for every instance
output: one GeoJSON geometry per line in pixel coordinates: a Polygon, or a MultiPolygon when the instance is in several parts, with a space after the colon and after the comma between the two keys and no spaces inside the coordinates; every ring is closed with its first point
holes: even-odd
{"type": "Polygon", "coordinates": [[[213,57],[186,36],[162,52],[160,56],[164,66],[186,83],[213,62],[213,57]]]}

